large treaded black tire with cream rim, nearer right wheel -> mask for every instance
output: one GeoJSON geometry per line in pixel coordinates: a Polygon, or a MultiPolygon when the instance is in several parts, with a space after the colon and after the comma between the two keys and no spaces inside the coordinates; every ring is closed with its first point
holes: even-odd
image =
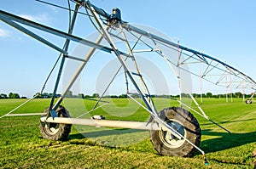
{"type": "MultiPolygon", "coordinates": [[[[160,119],[176,129],[191,143],[196,146],[200,145],[201,128],[195,116],[188,110],[177,107],[167,108],[160,111],[160,119]]],[[[150,138],[154,149],[160,155],[188,157],[192,156],[196,150],[193,145],[183,138],[179,140],[171,132],[152,130],[150,131],[150,138]]]]}

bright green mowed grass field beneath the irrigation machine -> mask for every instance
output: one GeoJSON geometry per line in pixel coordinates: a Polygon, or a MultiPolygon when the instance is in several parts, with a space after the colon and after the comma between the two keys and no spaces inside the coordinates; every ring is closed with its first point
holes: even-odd
{"type": "MultiPolygon", "coordinates": [[[[86,113],[95,101],[67,99],[64,105],[73,117],[104,115],[107,119],[147,121],[148,112],[130,99],[105,99],[110,104],[86,113]]],[[[25,99],[1,99],[0,116],[25,99]]],[[[155,99],[158,110],[178,106],[169,99],[155,99]]],[[[100,103],[102,105],[104,103],[100,103]]],[[[49,99],[34,99],[14,113],[43,112],[49,99]]],[[[195,109],[195,105],[191,104],[195,109]]],[[[201,149],[192,158],[158,155],[145,131],[73,126],[67,141],[46,140],[39,131],[39,116],[5,116],[0,119],[0,168],[253,168],[256,149],[256,103],[241,99],[204,99],[207,115],[232,132],[195,115],[201,124],[201,149]],[[230,100],[229,100],[230,101],[230,100]],[[86,138],[84,138],[84,136],[86,138]]]]}

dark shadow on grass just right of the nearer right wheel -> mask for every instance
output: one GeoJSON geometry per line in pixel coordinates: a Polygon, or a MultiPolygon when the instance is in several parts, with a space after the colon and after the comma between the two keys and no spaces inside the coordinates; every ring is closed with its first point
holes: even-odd
{"type": "Polygon", "coordinates": [[[227,132],[211,132],[211,130],[204,130],[202,135],[218,137],[207,139],[201,142],[200,147],[201,149],[204,149],[206,153],[213,153],[256,142],[256,132],[229,134],[227,132]]]}

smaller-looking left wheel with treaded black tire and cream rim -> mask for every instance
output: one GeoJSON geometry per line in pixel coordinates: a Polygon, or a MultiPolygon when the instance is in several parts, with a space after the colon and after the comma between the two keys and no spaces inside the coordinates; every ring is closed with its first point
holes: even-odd
{"type": "MultiPolygon", "coordinates": [[[[44,114],[47,114],[48,112],[49,108],[44,110],[44,114]]],[[[69,112],[61,105],[56,112],[59,117],[70,117],[69,112]]],[[[66,140],[71,131],[71,127],[71,124],[46,123],[43,121],[40,121],[39,124],[40,132],[43,137],[52,140],[66,140]]]]}

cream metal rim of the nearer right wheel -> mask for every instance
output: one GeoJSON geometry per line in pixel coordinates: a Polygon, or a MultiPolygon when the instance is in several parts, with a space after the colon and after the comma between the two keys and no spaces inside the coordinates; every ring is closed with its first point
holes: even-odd
{"type": "MultiPolygon", "coordinates": [[[[186,130],[179,121],[170,119],[166,121],[166,124],[174,128],[177,132],[179,132],[183,137],[186,138],[186,130]]],[[[185,139],[178,139],[174,135],[172,135],[172,132],[169,131],[160,131],[160,139],[162,143],[172,149],[180,147],[185,142],[185,139]]]]}

